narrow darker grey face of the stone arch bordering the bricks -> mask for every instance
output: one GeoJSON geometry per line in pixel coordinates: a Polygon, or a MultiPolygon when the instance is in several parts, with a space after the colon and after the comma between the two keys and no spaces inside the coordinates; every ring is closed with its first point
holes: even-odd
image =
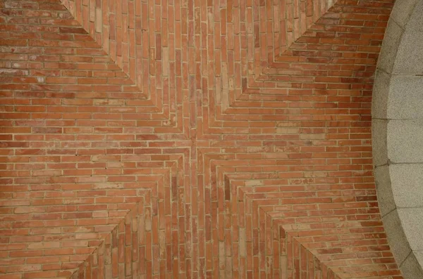
{"type": "Polygon", "coordinates": [[[423,268],[407,240],[394,200],[392,162],[388,157],[388,93],[398,48],[418,1],[421,0],[397,0],[393,7],[376,68],[372,100],[372,149],[379,209],[391,251],[405,279],[423,278],[423,268]]]}

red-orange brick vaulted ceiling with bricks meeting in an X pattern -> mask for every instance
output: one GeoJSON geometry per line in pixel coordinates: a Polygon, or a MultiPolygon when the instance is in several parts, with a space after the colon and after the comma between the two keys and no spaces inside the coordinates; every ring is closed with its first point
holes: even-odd
{"type": "Polygon", "coordinates": [[[391,0],[0,0],[0,278],[401,279],[391,0]]]}

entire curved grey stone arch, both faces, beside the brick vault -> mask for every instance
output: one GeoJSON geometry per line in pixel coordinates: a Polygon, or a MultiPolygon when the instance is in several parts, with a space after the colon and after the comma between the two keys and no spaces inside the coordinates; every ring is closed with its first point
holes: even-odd
{"type": "Polygon", "coordinates": [[[405,279],[423,278],[423,0],[398,0],[376,71],[374,175],[388,241],[405,279]]]}

